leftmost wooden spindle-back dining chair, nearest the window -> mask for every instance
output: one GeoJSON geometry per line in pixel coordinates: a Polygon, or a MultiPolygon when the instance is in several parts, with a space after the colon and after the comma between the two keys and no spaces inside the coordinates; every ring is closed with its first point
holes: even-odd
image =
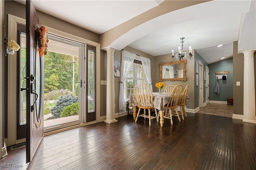
{"type": "Polygon", "coordinates": [[[156,108],[153,105],[152,90],[146,84],[138,84],[135,86],[134,92],[139,107],[135,122],[137,122],[138,117],[144,117],[144,119],[149,119],[149,126],[151,126],[151,119],[158,117],[156,108]],[[141,109],[144,109],[144,114],[140,115],[141,109]],[[148,109],[148,115],[146,114],[146,109],[148,109]],[[151,109],[155,109],[156,116],[151,115],[151,109]]]}

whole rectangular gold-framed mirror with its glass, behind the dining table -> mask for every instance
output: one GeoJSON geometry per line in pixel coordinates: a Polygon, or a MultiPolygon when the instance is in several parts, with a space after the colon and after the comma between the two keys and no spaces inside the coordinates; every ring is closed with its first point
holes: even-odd
{"type": "Polygon", "coordinates": [[[159,81],[169,80],[181,80],[186,81],[186,62],[182,61],[171,61],[169,63],[160,63],[160,75],[159,81]]]}

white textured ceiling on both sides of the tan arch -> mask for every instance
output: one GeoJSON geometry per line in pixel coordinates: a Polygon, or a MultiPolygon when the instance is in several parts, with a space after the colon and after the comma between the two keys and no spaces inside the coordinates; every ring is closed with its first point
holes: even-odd
{"type": "MultiPolygon", "coordinates": [[[[17,1],[25,4],[25,1],[17,1]]],[[[154,0],[32,0],[36,10],[98,34],[158,6],[154,0]],[[61,7],[61,8],[60,8],[61,7]]],[[[255,13],[251,0],[213,0],[158,16],[128,31],[112,43],[115,49],[130,46],[153,56],[191,46],[208,63],[232,57],[244,16],[255,13]],[[251,5],[252,4],[252,5],[251,5]],[[150,28],[150,29],[147,29],[150,28]],[[131,36],[132,35],[132,36],[131,36]],[[216,46],[224,44],[221,48],[216,46]]],[[[256,23],[256,18],[248,22],[256,23]]]]}

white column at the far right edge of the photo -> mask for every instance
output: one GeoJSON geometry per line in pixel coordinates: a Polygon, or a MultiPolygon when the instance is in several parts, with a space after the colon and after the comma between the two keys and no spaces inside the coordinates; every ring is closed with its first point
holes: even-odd
{"type": "Polygon", "coordinates": [[[255,117],[255,83],[254,50],[244,51],[244,122],[256,123],[255,117]]]}

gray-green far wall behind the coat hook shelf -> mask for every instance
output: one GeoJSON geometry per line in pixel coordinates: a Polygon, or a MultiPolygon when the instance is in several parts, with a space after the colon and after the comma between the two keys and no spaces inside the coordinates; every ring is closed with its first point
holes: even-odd
{"type": "Polygon", "coordinates": [[[228,97],[233,97],[233,57],[209,64],[209,100],[227,101],[228,97]],[[216,86],[215,72],[229,71],[226,80],[219,80],[220,94],[214,93],[216,86]]]}

